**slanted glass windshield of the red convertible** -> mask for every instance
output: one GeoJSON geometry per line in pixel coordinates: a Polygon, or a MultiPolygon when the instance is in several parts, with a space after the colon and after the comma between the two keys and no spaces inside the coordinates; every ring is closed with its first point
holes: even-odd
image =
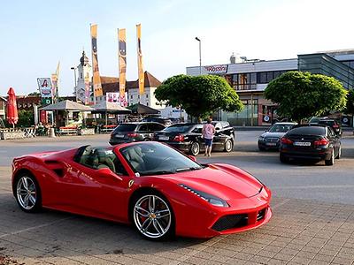
{"type": "Polygon", "coordinates": [[[180,152],[158,142],[139,143],[121,148],[120,153],[141,176],[172,174],[203,167],[180,152]]]}

